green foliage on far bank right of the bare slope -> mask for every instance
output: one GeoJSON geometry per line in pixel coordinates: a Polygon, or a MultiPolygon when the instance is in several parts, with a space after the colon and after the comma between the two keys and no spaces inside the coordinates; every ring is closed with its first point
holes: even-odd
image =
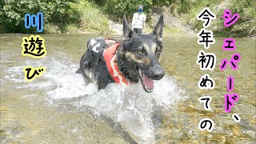
{"type": "Polygon", "coordinates": [[[217,15],[217,18],[210,25],[215,35],[222,37],[246,37],[256,34],[256,2],[254,0],[183,0],[178,5],[178,12],[184,14],[187,25],[192,26],[194,30],[202,29],[202,22],[196,18],[197,14],[204,8],[208,7],[217,15]],[[226,5],[226,6],[225,6],[226,5]],[[226,28],[223,26],[223,11],[230,9],[232,13],[238,13],[240,18],[233,26],[226,28]]]}

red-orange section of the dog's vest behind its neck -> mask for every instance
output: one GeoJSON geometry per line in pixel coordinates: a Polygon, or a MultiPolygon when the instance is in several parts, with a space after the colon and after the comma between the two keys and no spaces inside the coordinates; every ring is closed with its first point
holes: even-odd
{"type": "Polygon", "coordinates": [[[118,50],[118,47],[120,46],[121,42],[116,42],[111,39],[106,39],[106,45],[110,43],[114,43],[114,44],[106,48],[103,52],[103,57],[105,58],[107,69],[109,70],[110,75],[115,82],[117,82],[118,84],[122,82],[128,85],[126,78],[124,78],[123,75],[120,73],[118,69],[118,65],[116,63],[115,53],[118,50]]]}

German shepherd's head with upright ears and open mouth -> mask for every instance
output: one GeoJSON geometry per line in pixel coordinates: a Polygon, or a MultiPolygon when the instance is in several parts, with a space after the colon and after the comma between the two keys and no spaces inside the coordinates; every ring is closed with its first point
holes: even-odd
{"type": "Polygon", "coordinates": [[[146,92],[154,89],[154,80],[160,80],[165,72],[158,59],[162,52],[163,16],[151,34],[135,34],[123,17],[123,42],[118,49],[118,64],[131,82],[142,82],[146,92]]]}

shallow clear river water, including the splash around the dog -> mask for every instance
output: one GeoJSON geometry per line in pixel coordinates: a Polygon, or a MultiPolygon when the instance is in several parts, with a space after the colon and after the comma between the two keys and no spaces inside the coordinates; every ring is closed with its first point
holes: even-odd
{"type": "MultiPolygon", "coordinates": [[[[235,38],[242,60],[239,69],[218,69],[222,58],[234,51],[222,50],[223,38],[205,50],[198,38],[166,36],[160,63],[166,76],[155,81],[154,92],[141,84],[110,84],[97,91],[86,84],[78,70],[86,41],[97,35],[41,34],[47,54],[42,59],[23,57],[22,38],[30,34],[2,34],[1,127],[2,143],[255,143],[256,40],[235,38]],[[217,56],[215,69],[200,70],[198,51],[217,56]],[[24,66],[45,66],[46,72],[26,82],[24,66]],[[200,90],[204,74],[214,78],[214,90],[200,90]],[[239,94],[230,113],[224,110],[226,78],[234,77],[239,94]],[[211,96],[211,110],[198,98],[211,96]],[[238,114],[241,122],[234,122],[238,114]],[[198,129],[202,118],[211,118],[214,130],[198,129]]],[[[118,37],[112,37],[118,38],[118,37]]]]}

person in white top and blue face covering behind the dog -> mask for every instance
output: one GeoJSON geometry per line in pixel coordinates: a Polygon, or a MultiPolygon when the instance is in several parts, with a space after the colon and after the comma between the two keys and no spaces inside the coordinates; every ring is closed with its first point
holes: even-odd
{"type": "Polygon", "coordinates": [[[146,15],[142,13],[143,6],[138,6],[138,13],[133,16],[131,26],[136,34],[142,34],[142,29],[146,29],[146,15]]]}

